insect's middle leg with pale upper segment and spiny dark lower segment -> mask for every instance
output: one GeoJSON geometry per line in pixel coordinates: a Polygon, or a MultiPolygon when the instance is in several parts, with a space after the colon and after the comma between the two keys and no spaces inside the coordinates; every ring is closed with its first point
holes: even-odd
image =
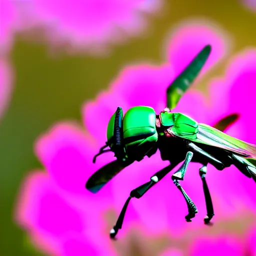
{"type": "Polygon", "coordinates": [[[193,201],[190,199],[190,197],[187,195],[185,190],[179,184],[178,180],[183,180],[184,179],[184,175],[185,175],[188,163],[191,161],[192,156],[193,156],[193,153],[191,151],[188,151],[186,153],[186,158],[185,158],[183,164],[171,176],[171,178],[173,180],[173,183],[180,190],[180,192],[183,194],[183,196],[186,200],[186,204],[187,204],[187,208],[188,208],[188,214],[185,216],[185,219],[186,219],[187,222],[190,222],[191,218],[193,218],[195,216],[195,214],[197,213],[197,209],[196,209],[196,206],[193,203],[193,201]]]}

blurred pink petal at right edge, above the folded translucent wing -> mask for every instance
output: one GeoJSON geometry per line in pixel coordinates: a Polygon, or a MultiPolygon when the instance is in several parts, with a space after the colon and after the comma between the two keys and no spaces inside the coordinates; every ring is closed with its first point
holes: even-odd
{"type": "MultiPolygon", "coordinates": [[[[250,119],[250,123],[252,122],[253,125],[253,118],[250,116],[256,105],[253,93],[248,93],[248,91],[254,91],[255,64],[255,49],[244,50],[230,59],[224,76],[211,82],[210,95],[213,109],[217,107],[218,111],[221,111],[223,108],[222,113],[236,112],[240,115],[241,122],[246,123],[246,120],[250,119]]],[[[240,139],[244,139],[245,134],[247,132],[241,134],[243,138],[240,139]]]]}

